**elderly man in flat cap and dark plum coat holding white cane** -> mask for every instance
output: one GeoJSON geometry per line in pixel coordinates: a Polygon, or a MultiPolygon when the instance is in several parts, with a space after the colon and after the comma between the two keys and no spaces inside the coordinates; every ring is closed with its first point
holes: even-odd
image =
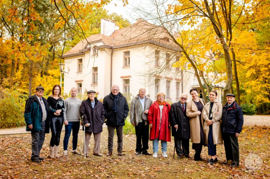
{"type": "MultiPolygon", "coordinates": [[[[89,140],[91,134],[94,134],[94,149],[93,155],[102,156],[100,154],[100,137],[102,132],[102,125],[105,120],[105,111],[103,108],[103,104],[96,97],[96,92],[94,90],[90,90],[87,92],[87,100],[82,101],[81,106],[81,115],[83,117],[83,125],[85,130],[85,156],[89,157],[89,140]]],[[[84,153],[83,149],[83,153],[84,153]]]]}

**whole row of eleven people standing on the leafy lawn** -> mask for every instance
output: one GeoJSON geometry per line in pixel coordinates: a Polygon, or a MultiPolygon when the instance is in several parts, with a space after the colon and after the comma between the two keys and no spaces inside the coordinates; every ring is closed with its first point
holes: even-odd
{"type": "MultiPolygon", "coordinates": [[[[65,124],[65,136],[63,140],[63,155],[67,156],[67,146],[72,131],[72,153],[81,155],[77,148],[78,132],[83,125],[85,142],[83,153],[89,157],[89,140],[93,133],[93,155],[100,154],[100,139],[103,124],[106,122],[108,129],[108,153],[113,154],[113,137],[117,134],[117,153],[123,156],[123,126],[128,116],[129,107],[126,98],[119,92],[119,86],[113,85],[109,95],[105,96],[103,103],[99,101],[94,90],[87,92],[88,98],[80,100],[76,98],[77,89],[72,88],[71,97],[63,100],[61,87],[54,85],[52,95],[43,97],[44,88],[37,87],[35,94],[26,101],[24,118],[26,130],[31,131],[33,162],[44,160],[40,157],[45,133],[51,129],[49,144],[49,157],[59,158],[58,149],[63,124],[65,124]],[[82,120],[81,120],[82,119],[82,120]]],[[[163,157],[167,155],[167,142],[171,141],[171,132],[174,137],[175,150],[178,158],[192,158],[189,155],[189,140],[192,141],[192,149],[195,150],[194,160],[200,161],[202,146],[208,146],[210,164],[216,163],[216,144],[224,141],[225,153],[231,166],[239,165],[238,136],[242,131],[242,109],[235,102],[234,94],[227,94],[227,103],[222,106],[216,100],[217,92],[209,94],[210,102],[205,103],[198,98],[196,88],[190,90],[192,100],[186,102],[188,96],[182,94],[180,101],[170,105],[165,101],[165,94],[158,93],[157,100],[146,96],[146,89],[140,88],[130,105],[130,122],[136,132],[136,155],[152,155],[149,149],[149,140],[153,141],[153,157],[158,157],[159,140],[163,157]],[[150,128],[150,134],[149,134],[150,128]]]]}

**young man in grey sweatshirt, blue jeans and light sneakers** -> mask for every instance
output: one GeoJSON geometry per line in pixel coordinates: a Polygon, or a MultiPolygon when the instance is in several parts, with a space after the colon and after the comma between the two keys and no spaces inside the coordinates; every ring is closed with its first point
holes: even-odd
{"type": "Polygon", "coordinates": [[[80,129],[80,110],[82,100],[77,98],[77,88],[73,87],[70,90],[71,97],[64,100],[64,124],[65,124],[65,137],[63,141],[64,156],[67,156],[67,144],[72,130],[72,154],[80,155],[77,151],[78,133],[80,129]]]}

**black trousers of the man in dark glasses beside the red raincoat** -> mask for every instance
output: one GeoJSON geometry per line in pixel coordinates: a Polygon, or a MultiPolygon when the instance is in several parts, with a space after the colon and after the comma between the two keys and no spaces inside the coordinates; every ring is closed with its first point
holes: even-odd
{"type": "Polygon", "coordinates": [[[178,156],[189,155],[189,139],[175,137],[174,145],[175,145],[176,154],[178,156]],[[182,143],[182,148],[181,148],[181,143],[182,143]]]}

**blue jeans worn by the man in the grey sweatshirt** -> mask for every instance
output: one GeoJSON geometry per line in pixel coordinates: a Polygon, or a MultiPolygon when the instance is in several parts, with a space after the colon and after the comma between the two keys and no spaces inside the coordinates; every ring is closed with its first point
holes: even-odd
{"type": "Polygon", "coordinates": [[[78,122],[68,122],[68,125],[65,125],[65,137],[64,137],[64,150],[67,150],[68,139],[70,138],[72,130],[72,150],[77,149],[78,143],[78,133],[80,129],[80,121],[78,122]]]}

